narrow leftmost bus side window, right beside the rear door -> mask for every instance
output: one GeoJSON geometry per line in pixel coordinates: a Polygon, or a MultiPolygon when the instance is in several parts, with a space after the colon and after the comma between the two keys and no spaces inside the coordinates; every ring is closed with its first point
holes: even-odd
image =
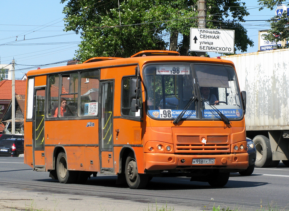
{"type": "Polygon", "coordinates": [[[48,111],[47,117],[54,117],[55,110],[58,108],[59,94],[59,75],[51,75],[48,77],[48,111]]]}

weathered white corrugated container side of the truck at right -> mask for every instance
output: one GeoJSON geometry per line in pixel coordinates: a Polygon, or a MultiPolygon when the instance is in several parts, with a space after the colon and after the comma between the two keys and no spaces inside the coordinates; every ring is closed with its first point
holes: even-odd
{"type": "Polygon", "coordinates": [[[289,129],[289,49],[222,56],[247,92],[246,130],[289,129]]]}

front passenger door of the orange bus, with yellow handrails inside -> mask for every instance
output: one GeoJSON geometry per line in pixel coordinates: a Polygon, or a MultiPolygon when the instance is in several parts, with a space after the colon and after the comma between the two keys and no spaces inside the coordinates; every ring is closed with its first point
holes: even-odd
{"type": "Polygon", "coordinates": [[[114,173],[113,90],[114,81],[101,81],[99,105],[99,160],[101,173],[114,173]]]}

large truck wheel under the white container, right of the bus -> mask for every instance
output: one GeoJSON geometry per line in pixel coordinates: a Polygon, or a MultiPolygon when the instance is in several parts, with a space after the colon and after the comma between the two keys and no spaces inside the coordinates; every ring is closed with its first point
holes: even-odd
{"type": "Polygon", "coordinates": [[[257,135],[253,138],[256,148],[255,166],[258,168],[269,167],[272,162],[272,151],[269,139],[264,135],[257,135]]]}

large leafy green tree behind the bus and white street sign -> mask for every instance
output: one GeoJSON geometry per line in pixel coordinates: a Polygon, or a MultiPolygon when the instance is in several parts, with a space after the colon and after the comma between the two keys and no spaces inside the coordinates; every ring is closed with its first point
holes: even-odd
{"type": "MultiPolygon", "coordinates": [[[[66,3],[61,0],[61,3],[66,3]]],[[[240,0],[208,0],[207,28],[235,30],[235,51],[253,46],[240,24],[249,13],[240,0]]],[[[190,27],[197,27],[197,0],[69,0],[65,30],[81,34],[75,56],[129,57],[141,50],[189,52],[190,27]],[[119,2],[119,4],[118,4],[119,2]]]]}

